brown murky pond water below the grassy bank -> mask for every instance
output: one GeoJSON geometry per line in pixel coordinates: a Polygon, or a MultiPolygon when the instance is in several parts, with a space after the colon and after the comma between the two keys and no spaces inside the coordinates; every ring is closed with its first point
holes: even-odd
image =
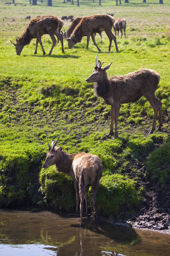
{"type": "Polygon", "coordinates": [[[0,210],[0,256],[170,255],[170,235],[49,211],[0,210]]]}

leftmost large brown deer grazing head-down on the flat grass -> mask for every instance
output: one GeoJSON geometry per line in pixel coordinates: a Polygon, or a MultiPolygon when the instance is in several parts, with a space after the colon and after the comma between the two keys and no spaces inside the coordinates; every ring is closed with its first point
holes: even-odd
{"type": "Polygon", "coordinates": [[[40,16],[38,18],[32,19],[28,23],[23,34],[19,38],[18,37],[16,38],[15,44],[12,43],[11,41],[10,42],[15,46],[16,54],[20,55],[23,47],[25,45],[28,45],[33,38],[36,38],[36,48],[35,48],[34,54],[36,54],[37,52],[37,46],[39,43],[44,55],[45,51],[42,46],[41,36],[44,34],[48,34],[52,39],[52,47],[49,51],[49,54],[51,54],[56,43],[56,39],[54,37],[55,35],[57,39],[61,42],[62,52],[64,52],[63,38],[60,35],[60,30],[62,26],[63,26],[63,22],[56,16],[53,16],[53,15],[40,16]]]}

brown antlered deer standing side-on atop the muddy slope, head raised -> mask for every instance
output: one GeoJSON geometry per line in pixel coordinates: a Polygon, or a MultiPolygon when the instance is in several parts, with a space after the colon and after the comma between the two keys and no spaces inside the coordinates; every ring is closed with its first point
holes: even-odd
{"type": "MultiPolygon", "coordinates": [[[[97,54],[98,55],[98,54],[97,54]]],[[[101,67],[103,63],[95,58],[95,68],[87,79],[87,83],[95,82],[94,91],[97,96],[104,99],[106,104],[111,105],[111,125],[108,135],[113,133],[113,120],[115,122],[114,138],[117,134],[117,121],[120,105],[123,103],[134,102],[141,96],[144,96],[150,103],[154,111],[152,129],[149,134],[155,130],[157,119],[157,112],[159,112],[159,126],[162,126],[162,108],[161,101],[156,98],[154,92],[160,80],[160,75],[151,69],[142,68],[132,73],[123,76],[107,77],[106,70],[109,69],[110,64],[101,67]]]]}

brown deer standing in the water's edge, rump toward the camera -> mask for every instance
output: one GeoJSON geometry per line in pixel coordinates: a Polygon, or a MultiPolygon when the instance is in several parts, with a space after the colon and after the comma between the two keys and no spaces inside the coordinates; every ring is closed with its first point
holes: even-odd
{"type": "Polygon", "coordinates": [[[76,194],[75,211],[78,209],[80,199],[80,225],[82,225],[83,200],[85,199],[87,213],[87,195],[89,186],[91,186],[91,213],[92,222],[94,222],[94,199],[102,175],[101,161],[98,156],[87,153],[66,153],[61,147],[56,147],[58,139],[56,142],[52,140],[50,147],[46,134],[48,153],[42,167],[46,169],[55,165],[57,172],[68,174],[72,178],[76,194]]]}

